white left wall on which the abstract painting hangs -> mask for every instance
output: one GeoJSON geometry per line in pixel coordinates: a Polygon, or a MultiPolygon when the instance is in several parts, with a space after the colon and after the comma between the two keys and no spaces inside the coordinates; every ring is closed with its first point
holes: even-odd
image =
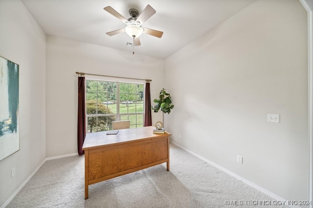
{"type": "Polygon", "coordinates": [[[1,206],[45,159],[45,33],[20,0],[0,1],[0,56],[20,67],[20,151],[0,161],[1,206]]]}

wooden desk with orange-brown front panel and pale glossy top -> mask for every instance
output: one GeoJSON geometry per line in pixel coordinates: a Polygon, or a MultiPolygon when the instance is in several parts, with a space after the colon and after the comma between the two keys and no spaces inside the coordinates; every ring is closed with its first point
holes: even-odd
{"type": "Polygon", "coordinates": [[[87,133],[85,151],[85,199],[88,186],[161,163],[170,170],[168,132],[154,134],[155,127],[122,129],[117,134],[87,133]]]}

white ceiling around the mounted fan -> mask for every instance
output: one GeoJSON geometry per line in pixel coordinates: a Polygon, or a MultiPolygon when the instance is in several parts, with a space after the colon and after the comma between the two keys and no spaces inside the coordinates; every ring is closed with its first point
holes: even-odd
{"type": "Polygon", "coordinates": [[[229,19],[256,0],[22,0],[47,35],[133,52],[126,33],[107,32],[126,27],[103,10],[111,6],[126,19],[129,9],[142,10],[150,4],[156,14],[143,27],[163,31],[162,38],[140,36],[135,54],[166,58],[229,19]]]}

